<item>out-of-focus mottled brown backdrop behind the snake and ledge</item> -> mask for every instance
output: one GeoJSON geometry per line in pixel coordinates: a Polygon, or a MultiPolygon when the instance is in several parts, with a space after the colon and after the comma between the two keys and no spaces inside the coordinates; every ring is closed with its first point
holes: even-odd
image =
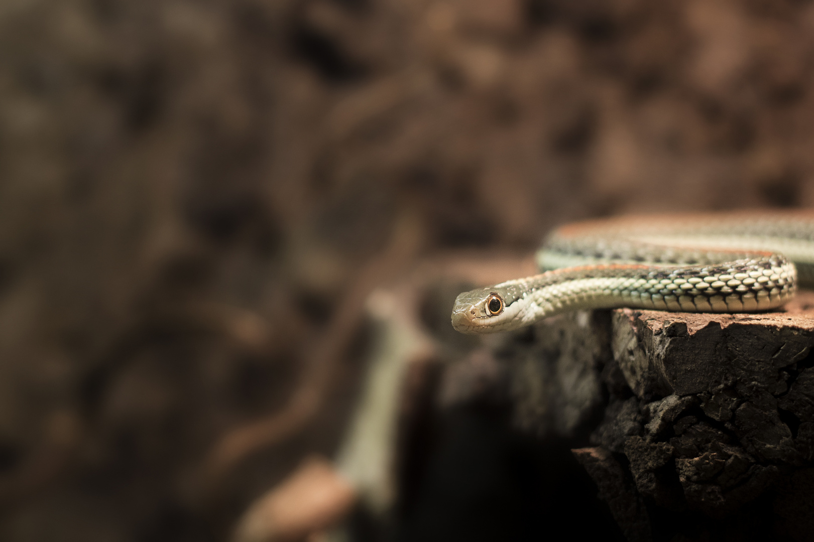
{"type": "Polygon", "coordinates": [[[0,3],[0,538],[225,540],[335,452],[336,322],[419,257],[811,205],[812,55],[807,0],[0,3]]]}

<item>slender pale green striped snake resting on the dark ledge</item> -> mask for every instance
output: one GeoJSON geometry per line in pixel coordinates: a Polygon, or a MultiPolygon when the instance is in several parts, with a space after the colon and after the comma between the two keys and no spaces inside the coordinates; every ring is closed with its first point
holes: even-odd
{"type": "Polygon", "coordinates": [[[580,309],[755,313],[814,285],[814,211],[617,216],[563,225],[540,271],[458,295],[464,334],[517,330],[580,309]]]}

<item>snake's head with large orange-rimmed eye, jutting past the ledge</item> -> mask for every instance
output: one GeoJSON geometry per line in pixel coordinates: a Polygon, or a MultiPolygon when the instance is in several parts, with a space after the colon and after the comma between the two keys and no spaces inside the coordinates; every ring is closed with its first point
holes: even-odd
{"type": "Polygon", "coordinates": [[[490,286],[458,295],[453,308],[453,327],[461,333],[493,333],[507,329],[519,311],[514,290],[490,286]]]}

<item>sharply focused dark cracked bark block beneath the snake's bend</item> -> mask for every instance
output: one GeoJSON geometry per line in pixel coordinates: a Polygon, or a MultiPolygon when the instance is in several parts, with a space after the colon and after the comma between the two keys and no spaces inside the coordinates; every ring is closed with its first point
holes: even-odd
{"type": "Polygon", "coordinates": [[[753,315],[614,311],[593,453],[624,455],[651,509],[700,512],[696,533],[703,518],[764,514],[773,535],[809,540],[814,496],[801,487],[814,457],[812,299],[753,315]],[[759,498],[773,506],[755,508],[759,498]]]}

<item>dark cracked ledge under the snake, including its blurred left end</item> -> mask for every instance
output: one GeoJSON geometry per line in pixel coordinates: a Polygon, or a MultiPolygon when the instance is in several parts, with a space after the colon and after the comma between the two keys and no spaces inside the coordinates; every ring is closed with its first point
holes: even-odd
{"type": "Polygon", "coordinates": [[[811,540],[812,307],[803,292],[778,313],[575,313],[497,352],[519,426],[593,428],[574,454],[628,540],[811,540]]]}

